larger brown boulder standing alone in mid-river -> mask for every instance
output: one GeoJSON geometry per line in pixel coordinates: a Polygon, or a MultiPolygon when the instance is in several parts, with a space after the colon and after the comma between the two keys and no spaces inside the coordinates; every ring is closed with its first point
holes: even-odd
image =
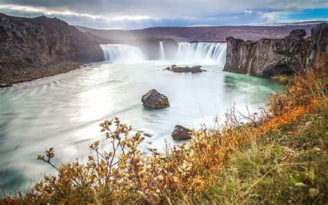
{"type": "Polygon", "coordinates": [[[167,96],[158,93],[156,89],[151,89],[150,91],[145,93],[145,95],[143,95],[143,97],[141,98],[141,102],[143,102],[143,106],[150,107],[153,109],[162,109],[170,106],[167,96]]]}

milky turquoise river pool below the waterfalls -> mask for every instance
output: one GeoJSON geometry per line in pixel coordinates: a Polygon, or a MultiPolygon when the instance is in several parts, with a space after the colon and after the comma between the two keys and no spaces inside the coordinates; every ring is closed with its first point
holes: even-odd
{"type": "Polygon", "coordinates": [[[106,118],[118,116],[147,134],[141,145],[144,152],[161,151],[165,139],[180,143],[170,136],[176,124],[212,126],[215,116],[224,116],[233,105],[242,113],[246,105],[256,112],[269,93],[282,89],[271,80],[223,72],[217,65],[204,65],[208,72],[197,74],[162,71],[169,65],[92,64],[0,89],[1,188],[26,188],[30,180],[53,173],[36,160],[47,148],[55,148],[57,165],[76,157],[85,161],[91,154],[89,144],[102,139],[99,123],[106,118]],[[140,99],[149,89],[164,93],[171,107],[143,107],[140,99]]]}

